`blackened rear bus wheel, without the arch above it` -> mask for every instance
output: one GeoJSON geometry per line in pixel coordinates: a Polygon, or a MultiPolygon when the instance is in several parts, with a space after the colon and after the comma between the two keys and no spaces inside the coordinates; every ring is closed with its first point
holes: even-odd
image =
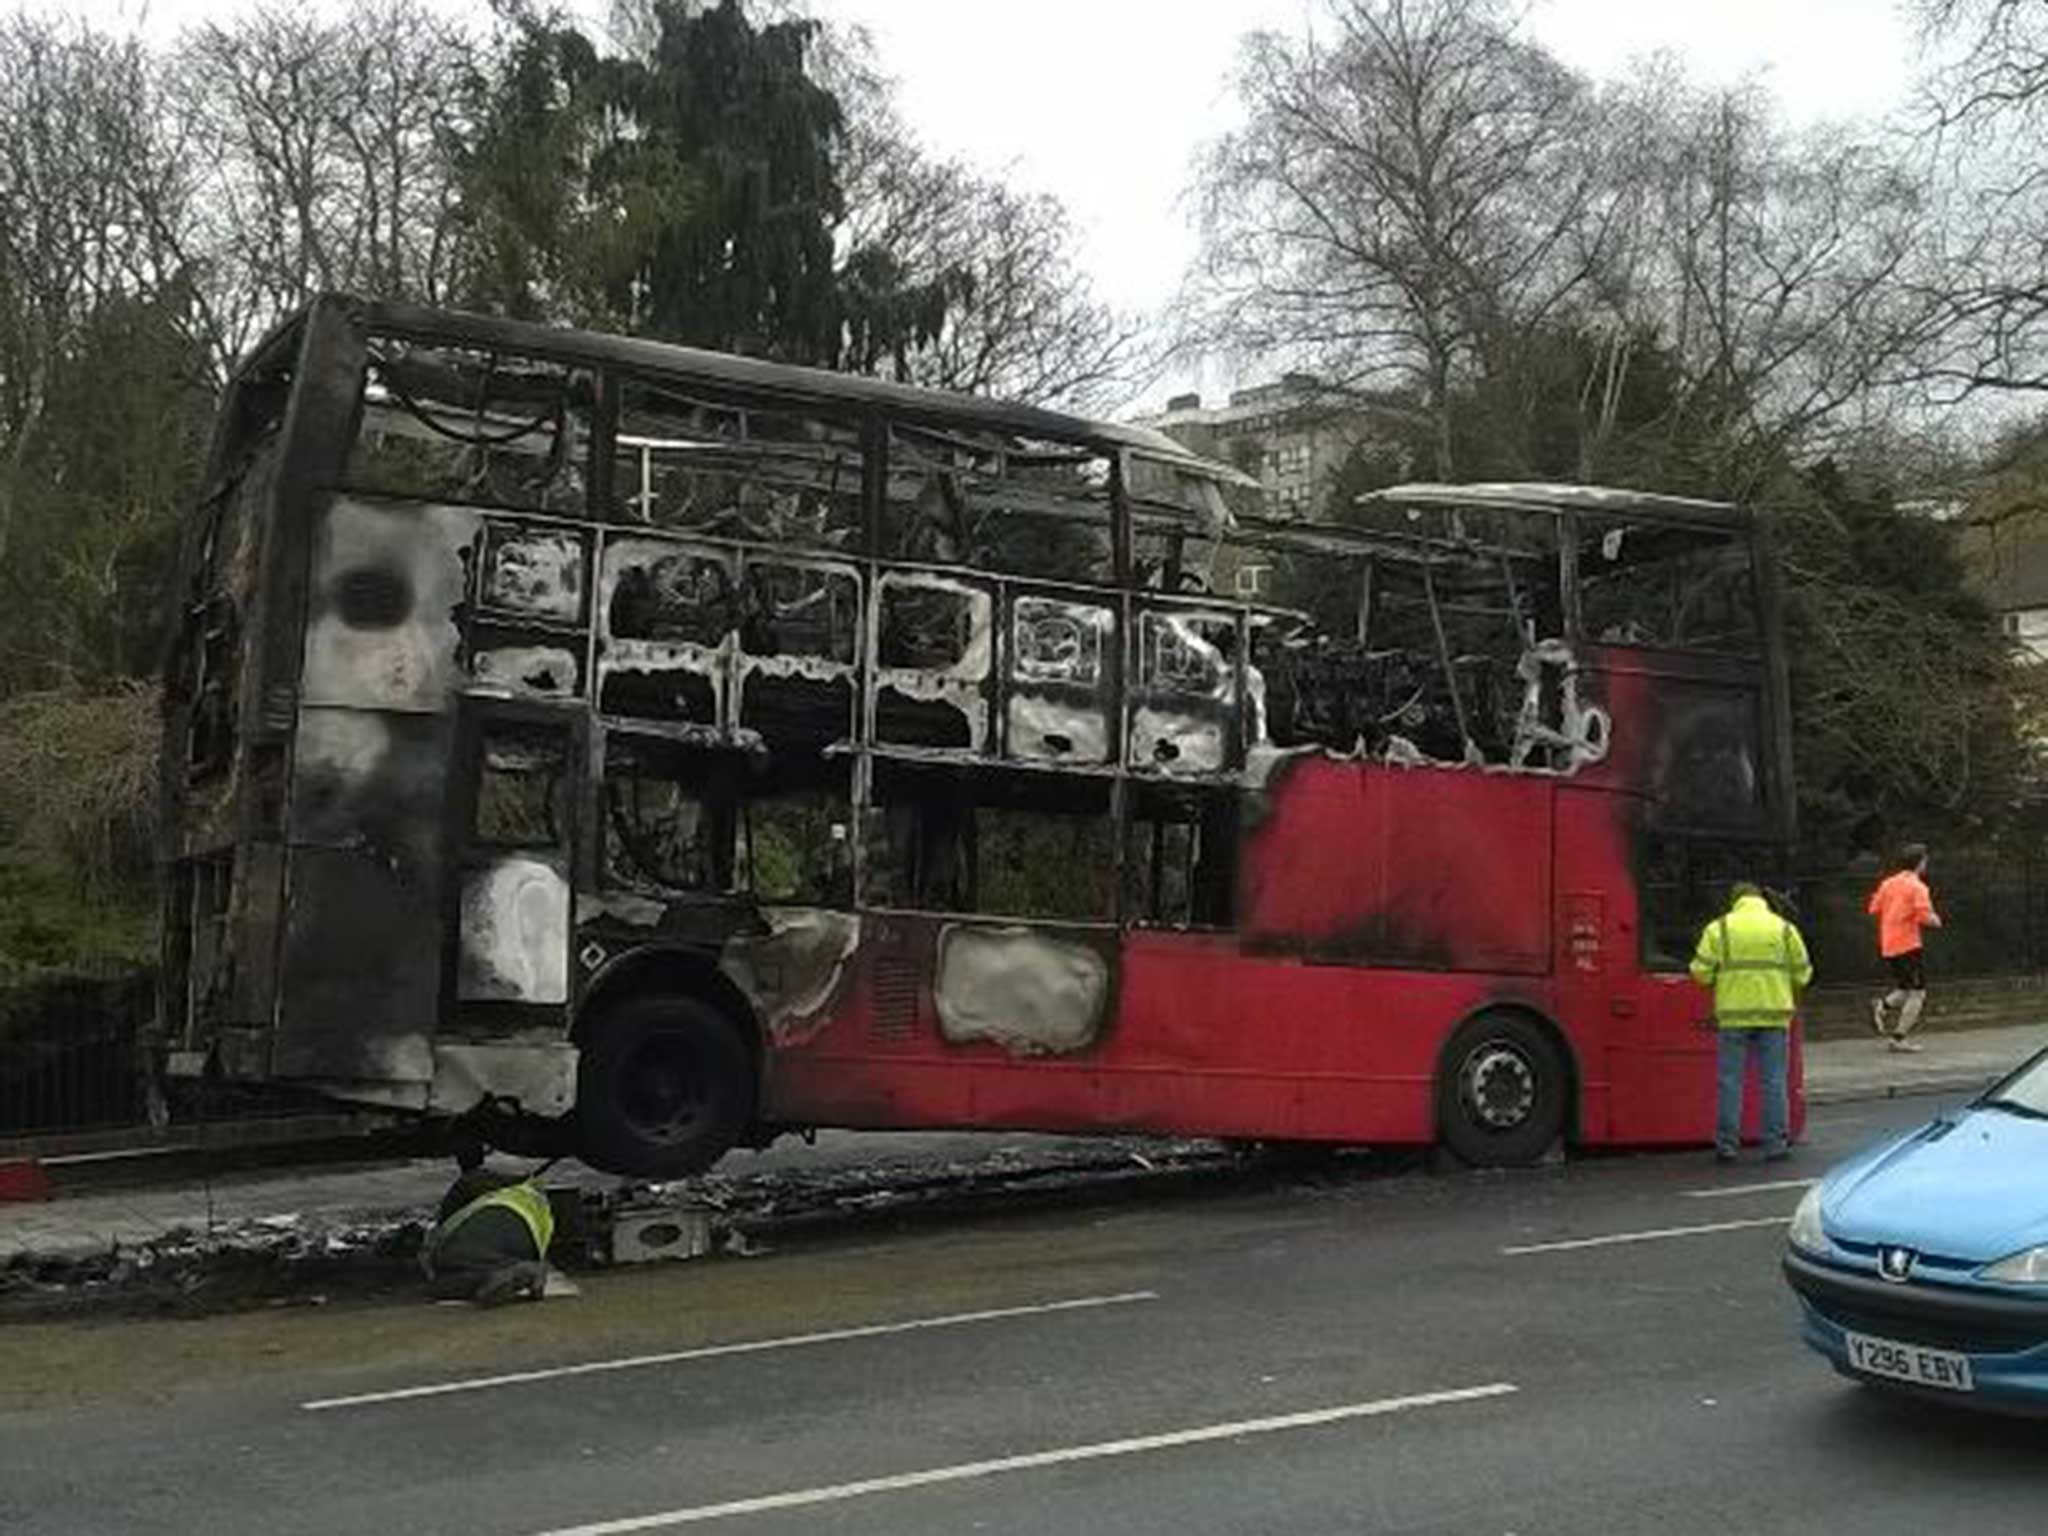
{"type": "Polygon", "coordinates": [[[754,1061],[739,1030],[684,995],[633,997],[584,1040],[575,1083],[580,1155],[606,1174],[700,1174],[754,1116],[754,1061]]]}

